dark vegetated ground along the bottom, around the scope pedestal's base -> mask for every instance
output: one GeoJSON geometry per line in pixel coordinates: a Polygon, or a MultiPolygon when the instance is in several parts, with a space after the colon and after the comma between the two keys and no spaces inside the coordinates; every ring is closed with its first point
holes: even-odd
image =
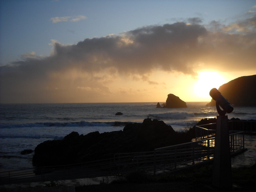
{"type": "Polygon", "coordinates": [[[212,186],[212,165],[187,168],[178,172],[166,172],[151,175],[146,172],[132,172],[111,183],[76,187],[77,192],[83,191],[254,191],[256,164],[252,167],[232,169],[233,188],[219,189],[212,186]]]}

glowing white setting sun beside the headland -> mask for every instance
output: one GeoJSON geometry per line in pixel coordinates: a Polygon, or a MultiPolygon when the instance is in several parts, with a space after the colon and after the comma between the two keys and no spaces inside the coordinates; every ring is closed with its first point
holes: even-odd
{"type": "Polygon", "coordinates": [[[194,92],[201,101],[211,100],[209,92],[212,88],[219,89],[220,85],[227,83],[218,72],[204,71],[198,73],[198,80],[194,85],[194,92]]]}

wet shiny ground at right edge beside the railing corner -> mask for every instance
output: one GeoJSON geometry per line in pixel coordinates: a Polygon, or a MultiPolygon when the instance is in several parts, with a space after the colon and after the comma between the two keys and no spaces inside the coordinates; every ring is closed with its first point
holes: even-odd
{"type": "Polygon", "coordinates": [[[244,148],[247,151],[231,157],[232,167],[252,166],[256,163],[256,135],[244,135],[244,148]]]}

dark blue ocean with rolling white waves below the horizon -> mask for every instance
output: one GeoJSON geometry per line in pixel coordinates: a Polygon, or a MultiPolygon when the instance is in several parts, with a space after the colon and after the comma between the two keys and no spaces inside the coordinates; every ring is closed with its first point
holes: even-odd
{"type": "MultiPolygon", "coordinates": [[[[119,131],[127,122],[142,123],[147,117],[182,131],[218,115],[215,106],[206,106],[208,102],[186,103],[188,108],[156,108],[157,102],[0,104],[0,168],[32,168],[33,153],[21,155],[21,151],[34,150],[39,143],[62,139],[72,131],[84,135],[119,131]],[[123,115],[116,116],[117,112],[123,115]]],[[[256,107],[234,106],[227,115],[229,119],[256,120],[256,107]]]]}

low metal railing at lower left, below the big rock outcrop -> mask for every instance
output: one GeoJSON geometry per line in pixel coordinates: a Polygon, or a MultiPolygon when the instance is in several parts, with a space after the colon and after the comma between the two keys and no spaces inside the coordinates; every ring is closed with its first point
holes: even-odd
{"type": "Polygon", "coordinates": [[[117,171],[113,158],[78,164],[36,167],[0,172],[0,185],[100,177],[115,174],[117,171]]]}

